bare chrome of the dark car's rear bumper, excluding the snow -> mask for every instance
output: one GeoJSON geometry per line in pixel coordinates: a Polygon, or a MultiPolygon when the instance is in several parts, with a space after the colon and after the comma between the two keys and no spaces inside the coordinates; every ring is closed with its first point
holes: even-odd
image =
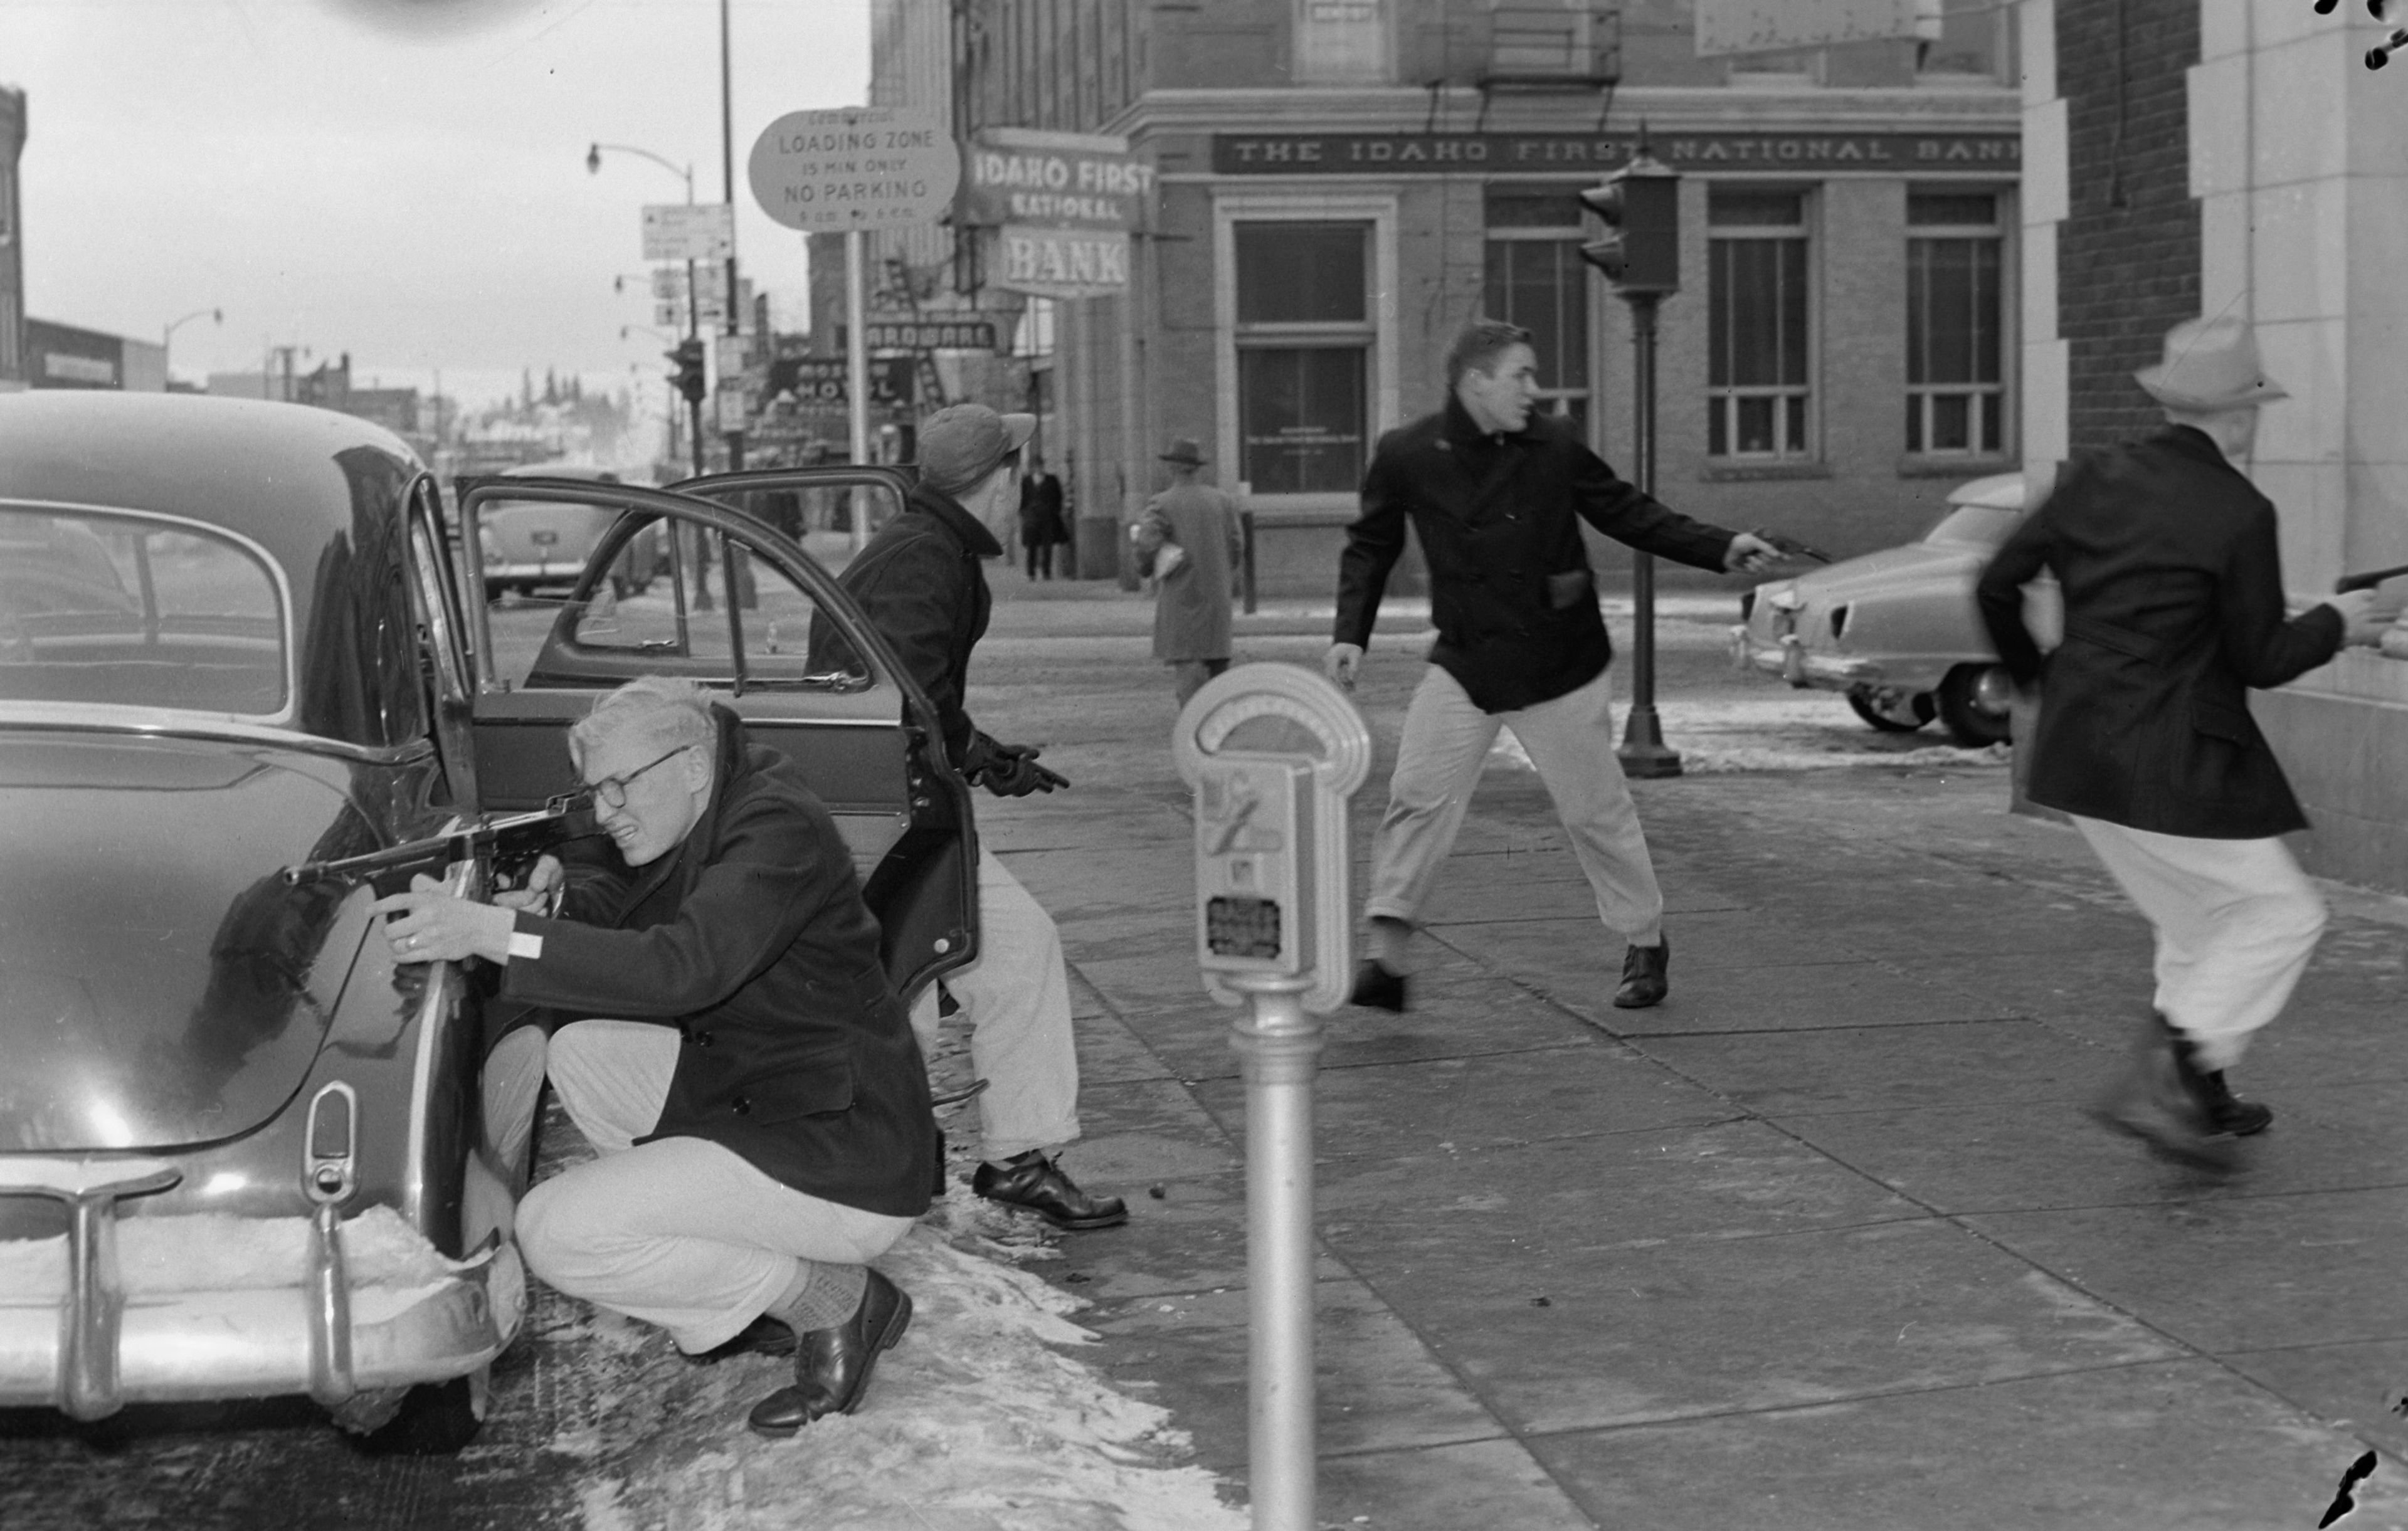
{"type": "Polygon", "coordinates": [[[77,1420],[125,1403],[272,1394],[335,1406],[356,1391],[465,1377],[518,1329],[525,1276],[513,1245],[431,1281],[354,1285],[332,1208],[306,1218],[289,1283],[128,1293],[118,1201],[178,1180],[159,1160],[0,1160],[0,1196],[70,1208],[65,1281],[0,1290],[0,1406],[51,1406],[77,1420]]]}

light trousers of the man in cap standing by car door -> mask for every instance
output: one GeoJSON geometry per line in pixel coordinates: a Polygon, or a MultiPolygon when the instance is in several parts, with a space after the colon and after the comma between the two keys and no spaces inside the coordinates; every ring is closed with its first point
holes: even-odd
{"type": "MultiPolygon", "coordinates": [[[[944,975],[970,1018],[980,1153],[1004,1160],[1079,1136],[1079,1045],[1069,1025],[1062,929],[1028,888],[978,847],[978,960],[944,975]]],[[[910,1013],[920,1054],[937,1054],[937,985],[910,1013]]]]}

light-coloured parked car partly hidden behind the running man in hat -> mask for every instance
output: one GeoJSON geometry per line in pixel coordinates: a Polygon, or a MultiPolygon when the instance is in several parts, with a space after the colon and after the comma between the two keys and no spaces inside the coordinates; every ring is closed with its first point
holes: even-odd
{"type": "MultiPolygon", "coordinates": [[[[1876,729],[1914,732],[1938,717],[1958,744],[1999,744],[2013,684],[1982,631],[1972,585],[2020,518],[2023,474],[1975,479],[1948,496],[1922,542],[1743,595],[1731,657],[1792,686],[1840,691],[1876,729]]],[[[2035,583],[2025,607],[2042,645],[2054,645],[2054,583],[2035,583]]]]}

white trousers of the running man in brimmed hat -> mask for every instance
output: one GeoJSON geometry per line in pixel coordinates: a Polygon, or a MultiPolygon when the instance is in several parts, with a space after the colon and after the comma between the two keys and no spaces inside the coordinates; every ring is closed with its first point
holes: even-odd
{"type": "Polygon", "coordinates": [[[2230,1069],[2307,970],[2324,895],[2280,840],[2073,826],[2158,932],[2158,1011],[2199,1045],[2201,1069],[2230,1069]]]}

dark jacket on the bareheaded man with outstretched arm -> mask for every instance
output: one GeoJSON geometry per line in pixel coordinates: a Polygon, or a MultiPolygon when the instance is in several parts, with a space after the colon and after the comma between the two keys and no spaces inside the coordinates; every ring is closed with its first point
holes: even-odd
{"type": "Polygon", "coordinates": [[[1570,421],[1531,416],[1488,436],[1452,395],[1380,438],[1363,513],[1339,556],[1336,643],[1370,643],[1387,571],[1413,522],[1430,563],[1430,664],[1483,713],[1512,713],[1597,679],[1613,660],[1580,522],[1698,568],[1731,532],[1688,520],[1613,477],[1570,421]]]}

